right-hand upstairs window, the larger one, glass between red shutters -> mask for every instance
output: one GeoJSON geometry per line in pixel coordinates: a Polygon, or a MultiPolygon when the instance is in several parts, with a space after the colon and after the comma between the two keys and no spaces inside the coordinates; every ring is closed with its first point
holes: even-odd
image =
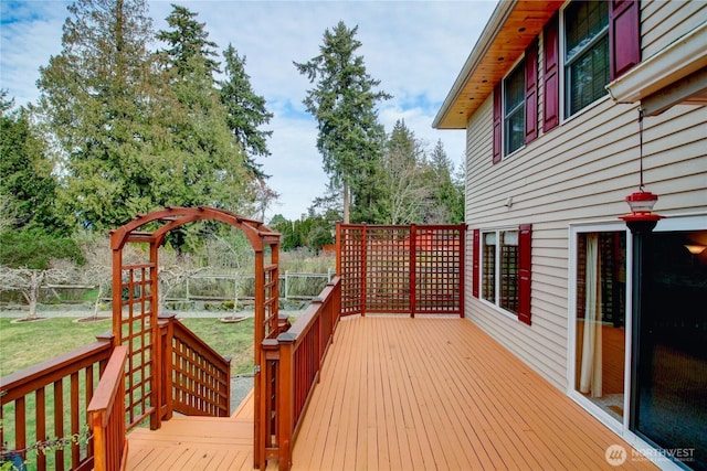
{"type": "Polygon", "coordinates": [[[573,1],[564,9],[564,110],[572,116],[606,95],[609,2],[573,1]]]}

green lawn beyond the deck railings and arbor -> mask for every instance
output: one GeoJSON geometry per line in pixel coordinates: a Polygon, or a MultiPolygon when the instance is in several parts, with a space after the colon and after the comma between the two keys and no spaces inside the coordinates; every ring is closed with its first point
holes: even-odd
{"type": "MultiPolygon", "coordinates": [[[[50,318],[11,323],[0,318],[0,376],[50,360],[96,341],[109,332],[110,320],[74,322],[71,318],[50,318]]],[[[213,350],[231,356],[231,374],[253,373],[253,320],[222,323],[218,319],[181,320],[213,350]]]]}

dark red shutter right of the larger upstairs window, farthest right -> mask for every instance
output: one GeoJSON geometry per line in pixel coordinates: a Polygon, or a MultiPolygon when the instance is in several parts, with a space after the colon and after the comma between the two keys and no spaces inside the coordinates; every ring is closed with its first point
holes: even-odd
{"type": "Polygon", "coordinates": [[[641,62],[637,0],[609,2],[609,78],[615,79],[641,62]]]}

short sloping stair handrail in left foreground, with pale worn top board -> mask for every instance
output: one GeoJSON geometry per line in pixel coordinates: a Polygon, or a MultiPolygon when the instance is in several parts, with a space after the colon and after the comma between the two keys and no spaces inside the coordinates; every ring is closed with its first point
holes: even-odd
{"type": "Polygon", "coordinates": [[[94,440],[94,469],[114,471],[124,468],[127,459],[125,439],[125,362],[126,346],[116,346],[98,387],[88,404],[94,440]]]}

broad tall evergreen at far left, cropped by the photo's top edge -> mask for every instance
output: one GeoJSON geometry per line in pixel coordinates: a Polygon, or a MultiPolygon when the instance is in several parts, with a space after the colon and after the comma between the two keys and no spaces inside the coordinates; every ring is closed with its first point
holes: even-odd
{"type": "Polygon", "coordinates": [[[36,110],[61,159],[57,204],[85,227],[113,228],[151,210],[151,20],[145,0],[76,0],[68,13],[62,52],[40,68],[36,110]]]}

